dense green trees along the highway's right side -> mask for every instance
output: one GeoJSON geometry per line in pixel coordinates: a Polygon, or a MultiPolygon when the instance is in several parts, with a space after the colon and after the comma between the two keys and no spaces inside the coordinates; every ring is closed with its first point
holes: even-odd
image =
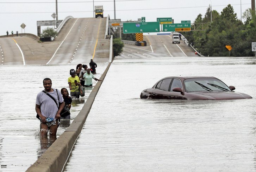
{"type": "Polygon", "coordinates": [[[192,28],[198,27],[198,30],[204,30],[182,34],[204,56],[229,56],[226,45],[232,47],[231,56],[254,56],[254,52],[251,51],[251,42],[256,42],[256,19],[255,15],[251,15],[250,8],[243,13],[243,19],[245,19],[244,23],[237,19],[237,14],[229,4],[220,14],[213,10],[211,21],[209,6],[205,16],[199,14],[191,25],[192,28]],[[200,28],[199,23],[208,24],[200,28]]]}

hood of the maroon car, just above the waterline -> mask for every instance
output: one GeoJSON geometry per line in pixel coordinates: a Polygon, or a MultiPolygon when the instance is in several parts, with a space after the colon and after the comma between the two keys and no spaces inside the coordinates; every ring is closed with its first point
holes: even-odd
{"type": "Polygon", "coordinates": [[[252,98],[247,94],[235,91],[210,91],[210,92],[197,92],[197,95],[206,97],[209,100],[227,100],[227,99],[244,99],[252,98]]]}

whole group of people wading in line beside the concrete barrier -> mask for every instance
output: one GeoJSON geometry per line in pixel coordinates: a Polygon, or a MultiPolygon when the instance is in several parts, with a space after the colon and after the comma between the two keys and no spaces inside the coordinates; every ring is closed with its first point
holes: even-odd
{"type": "Polygon", "coordinates": [[[50,78],[43,80],[44,90],[37,94],[36,112],[40,119],[40,134],[47,136],[50,130],[50,136],[56,136],[57,128],[60,125],[60,119],[70,119],[70,115],[61,117],[61,111],[66,108],[71,108],[72,98],[80,97],[80,89],[83,87],[92,87],[92,79],[101,81],[94,77],[96,74],[97,64],[91,59],[90,68],[85,64],[77,64],[76,70],[70,69],[68,78],[70,96],[66,88],[58,89],[51,88],[52,81],[50,78]],[[83,69],[82,69],[83,68],[83,69]],[[81,82],[80,82],[81,81],[81,82]]]}

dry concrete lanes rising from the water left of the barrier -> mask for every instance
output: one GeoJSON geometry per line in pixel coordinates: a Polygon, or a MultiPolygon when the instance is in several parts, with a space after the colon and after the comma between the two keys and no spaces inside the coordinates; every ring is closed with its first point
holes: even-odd
{"type": "Polygon", "coordinates": [[[40,42],[33,34],[0,36],[2,65],[107,62],[110,40],[108,18],[70,18],[53,41],[40,42]]]}

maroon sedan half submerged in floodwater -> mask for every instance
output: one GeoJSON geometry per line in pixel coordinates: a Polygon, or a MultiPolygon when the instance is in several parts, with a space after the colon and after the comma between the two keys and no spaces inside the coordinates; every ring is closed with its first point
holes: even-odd
{"type": "Polygon", "coordinates": [[[141,98],[225,100],[244,99],[251,96],[235,92],[216,77],[165,77],[152,88],[141,92],[141,98]]]}

